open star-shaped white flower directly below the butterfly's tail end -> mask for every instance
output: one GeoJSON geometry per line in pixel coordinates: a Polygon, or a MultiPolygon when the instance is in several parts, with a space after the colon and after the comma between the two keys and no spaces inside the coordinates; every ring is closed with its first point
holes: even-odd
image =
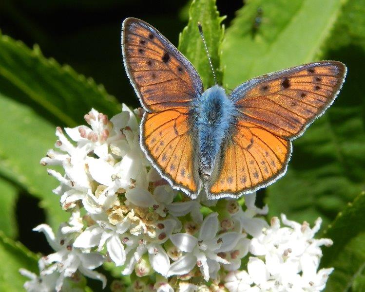
{"type": "Polygon", "coordinates": [[[170,237],[173,244],[186,254],[171,265],[169,276],[187,274],[197,265],[206,281],[210,277],[216,278],[220,268],[219,263],[229,263],[217,254],[232,250],[241,237],[236,232],[216,237],[218,225],[218,214],[211,213],[204,219],[198,238],[187,233],[173,234],[170,237]]]}

